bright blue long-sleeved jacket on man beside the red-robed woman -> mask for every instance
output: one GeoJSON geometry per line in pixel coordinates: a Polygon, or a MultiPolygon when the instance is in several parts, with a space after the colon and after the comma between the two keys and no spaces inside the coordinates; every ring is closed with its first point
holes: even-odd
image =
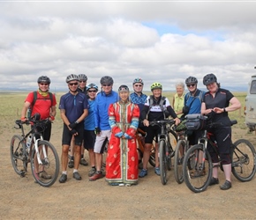
{"type": "Polygon", "coordinates": [[[99,92],[94,104],[94,121],[95,127],[101,130],[110,130],[109,126],[109,105],[118,101],[117,92],[99,92]]]}

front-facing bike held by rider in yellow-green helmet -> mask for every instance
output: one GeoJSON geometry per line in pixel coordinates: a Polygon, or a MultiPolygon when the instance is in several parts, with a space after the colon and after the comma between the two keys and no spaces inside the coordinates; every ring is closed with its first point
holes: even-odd
{"type": "Polygon", "coordinates": [[[160,164],[160,177],[162,185],[167,183],[167,170],[171,169],[171,158],[174,156],[174,150],[170,143],[170,136],[174,136],[177,142],[177,134],[171,128],[175,124],[174,120],[164,119],[161,121],[150,121],[150,126],[159,126],[161,134],[158,135],[159,144],[159,164],[160,164]]]}

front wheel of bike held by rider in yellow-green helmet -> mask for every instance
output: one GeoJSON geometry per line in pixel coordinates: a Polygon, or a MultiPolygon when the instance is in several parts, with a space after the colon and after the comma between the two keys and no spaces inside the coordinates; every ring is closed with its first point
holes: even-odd
{"type": "Polygon", "coordinates": [[[167,183],[167,158],[166,158],[166,143],[161,140],[159,143],[159,164],[160,164],[160,177],[162,185],[167,183]]]}

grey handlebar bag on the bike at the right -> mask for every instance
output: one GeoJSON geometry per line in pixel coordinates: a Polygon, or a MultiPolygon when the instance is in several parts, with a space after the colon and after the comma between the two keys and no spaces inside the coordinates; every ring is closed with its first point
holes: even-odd
{"type": "Polygon", "coordinates": [[[202,114],[187,114],[185,127],[189,130],[202,130],[207,126],[207,117],[202,114]]]}

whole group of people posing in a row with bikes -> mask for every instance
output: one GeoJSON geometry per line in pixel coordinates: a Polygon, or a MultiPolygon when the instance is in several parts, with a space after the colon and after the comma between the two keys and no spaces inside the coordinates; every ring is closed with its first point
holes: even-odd
{"type": "MultiPolygon", "coordinates": [[[[41,120],[50,118],[52,121],[56,116],[56,97],[49,99],[50,79],[46,76],[38,78],[39,89],[37,99],[33,103],[33,93],[30,92],[26,98],[21,120],[26,121],[26,110],[33,105],[32,115],[41,114],[41,120]],[[47,103],[47,105],[45,105],[47,103]]],[[[64,183],[67,179],[67,166],[73,168],[73,178],[81,180],[79,164],[88,165],[84,158],[84,150],[88,150],[89,180],[94,181],[106,176],[111,186],[131,186],[138,184],[138,179],[147,176],[147,163],[154,137],[155,144],[155,167],[154,172],[160,175],[158,161],[157,135],[160,128],[150,126],[150,121],[159,121],[172,117],[178,125],[180,116],[184,114],[211,114],[213,121],[222,121],[221,128],[212,128],[218,143],[221,143],[218,155],[215,150],[210,150],[214,165],[220,157],[225,173],[225,182],[221,189],[231,187],[231,161],[230,143],[231,128],[228,112],[235,111],[241,107],[240,102],[233,94],[220,88],[217,78],[210,73],[203,77],[203,84],[207,92],[198,89],[196,77],[188,77],[184,83],[188,89],[184,93],[184,84],[177,83],[177,93],[174,95],[172,106],[169,99],[162,96],[162,84],[151,84],[152,95],[143,93],[143,80],[139,77],[132,82],[133,92],[125,84],[113,91],[114,80],[112,77],[104,76],[100,80],[101,90],[96,84],[87,85],[85,74],[71,74],[66,77],[69,92],[60,98],[59,109],[61,119],[64,122],[62,136],[62,173],[59,179],[64,183]],[[139,158],[135,134],[137,128],[147,132],[145,137],[142,169],[139,171],[139,158]],[[104,143],[109,140],[109,152],[106,160],[106,173],[102,169],[102,153],[104,143]],[[68,154],[71,158],[68,161],[68,154]]],[[[44,133],[44,138],[50,138],[49,128],[44,133]]],[[[189,143],[196,144],[201,136],[201,131],[193,131],[189,136],[189,143]]],[[[214,166],[213,177],[210,185],[219,184],[217,166],[214,166]]],[[[42,178],[50,178],[48,173],[42,172],[42,178]]]]}

